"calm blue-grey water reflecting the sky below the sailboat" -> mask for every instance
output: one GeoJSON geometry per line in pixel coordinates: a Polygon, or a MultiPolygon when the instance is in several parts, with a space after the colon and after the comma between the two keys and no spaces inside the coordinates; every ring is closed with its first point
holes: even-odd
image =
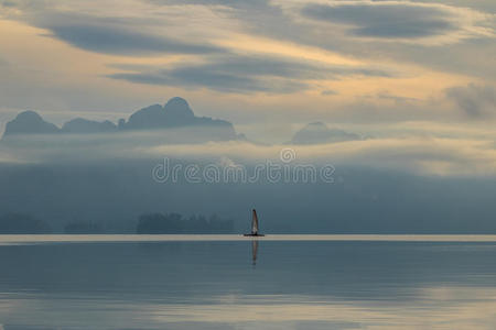
{"type": "Polygon", "coordinates": [[[0,329],[495,329],[496,237],[0,237],[0,329]]]}

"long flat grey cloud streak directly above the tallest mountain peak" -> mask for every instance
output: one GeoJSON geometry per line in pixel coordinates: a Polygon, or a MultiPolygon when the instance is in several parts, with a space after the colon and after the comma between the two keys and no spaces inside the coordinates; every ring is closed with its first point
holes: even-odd
{"type": "MultiPolygon", "coordinates": [[[[116,66],[115,66],[116,67],[116,66]]],[[[204,64],[183,63],[172,68],[117,66],[130,73],[110,78],[138,84],[208,88],[225,92],[292,92],[310,86],[304,79],[338,79],[342,76],[390,76],[382,69],[354,66],[331,66],[315,62],[298,62],[276,57],[217,56],[204,64]]]]}

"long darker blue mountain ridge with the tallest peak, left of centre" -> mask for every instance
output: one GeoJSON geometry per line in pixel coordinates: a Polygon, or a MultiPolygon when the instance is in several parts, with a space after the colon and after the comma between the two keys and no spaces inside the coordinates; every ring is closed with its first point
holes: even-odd
{"type": "Polygon", "coordinates": [[[119,120],[118,125],[108,120],[98,122],[76,118],[58,129],[53,123],[44,121],[36,112],[24,111],[7,123],[3,138],[23,134],[89,134],[139,130],[163,130],[165,132],[170,129],[177,129],[171,131],[172,133],[166,136],[171,142],[237,140],[236,131],[230,122],[196,117],[186,100],[179,97],[170,99],[163,107],[154,105],[138,110],[129,117],[128,121],[119,120]]]}

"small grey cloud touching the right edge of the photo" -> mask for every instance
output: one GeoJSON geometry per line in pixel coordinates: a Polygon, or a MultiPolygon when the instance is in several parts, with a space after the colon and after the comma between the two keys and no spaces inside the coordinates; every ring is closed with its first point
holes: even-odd
{"type": "Polygon", "coordinates": [[[496,88],[470,84],[446,89],[446,97],[466,116],[484,119],[496,114],[496,88]]]}

